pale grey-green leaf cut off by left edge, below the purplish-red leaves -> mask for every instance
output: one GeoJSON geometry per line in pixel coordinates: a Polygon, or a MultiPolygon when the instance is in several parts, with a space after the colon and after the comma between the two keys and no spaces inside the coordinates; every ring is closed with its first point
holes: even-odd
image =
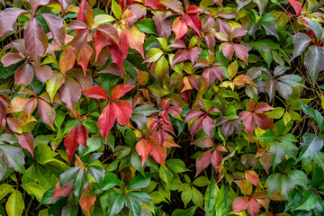
{"type": "Polygon", "coordinates": [[[22,148],[0,144],[0,152],[9,167],[14,168],[17,172],[25,173],[25,160],[22,148]]]}

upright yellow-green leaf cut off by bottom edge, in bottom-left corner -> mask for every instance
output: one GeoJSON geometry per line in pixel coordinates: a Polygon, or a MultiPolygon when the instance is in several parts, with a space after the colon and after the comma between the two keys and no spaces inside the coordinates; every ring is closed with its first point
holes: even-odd
{"type": "Polygon", "coordinates": [[[23,215],[24,202],[23,194],[20,191],[15,190],[5,203],[5,210],[8,216],[21,216],[23,215]]]}

